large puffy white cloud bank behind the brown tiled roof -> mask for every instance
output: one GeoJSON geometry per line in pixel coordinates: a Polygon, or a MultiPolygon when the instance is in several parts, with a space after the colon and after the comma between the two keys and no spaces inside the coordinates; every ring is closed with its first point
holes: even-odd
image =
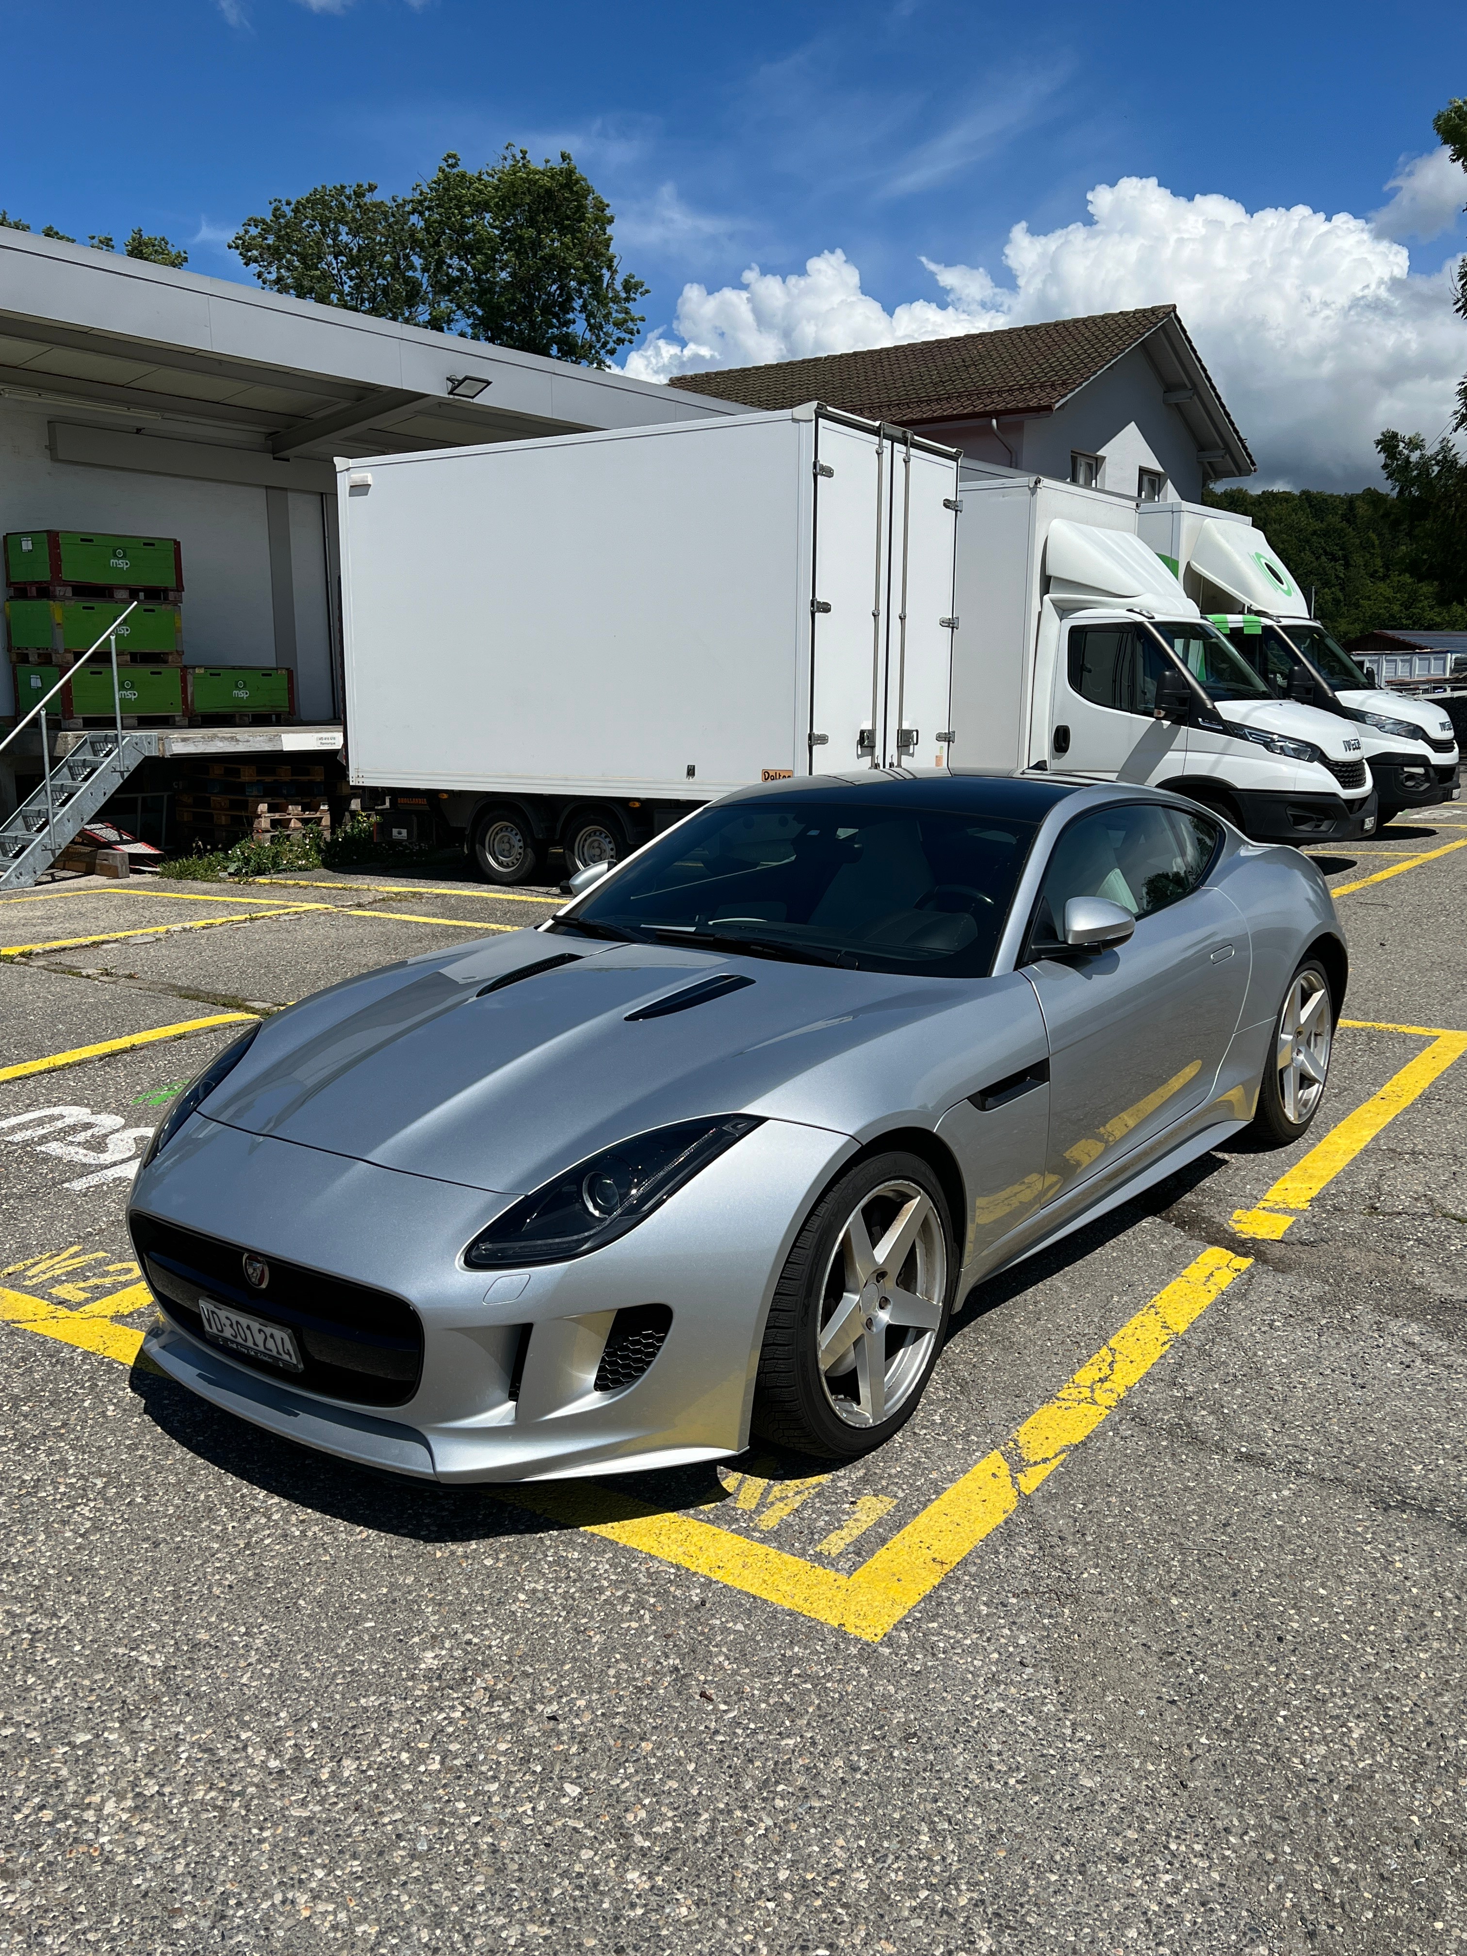
{"type": "Polygon", "coordinates": [[[1451,311],[1455,260],[1414,274],[1402,244],[1348,211],[1248,211],[1222,196],[1178,198],[1156,178],[1099,184],[1088,201],[1086,223],[1009,231],[1009,286],[982,266],[923,260],[947,303],[913,299],[888,313],[839,250],[790,278],[751,266],[737,288],[685,286],[677,338],[655,333],[628,372],[671,379],[1176,301],[1260,481],[1357,487],[1373,479],[1381,428],[1430,438],[1449,419],[1467,368],[1467,333],[1451,311]]]}

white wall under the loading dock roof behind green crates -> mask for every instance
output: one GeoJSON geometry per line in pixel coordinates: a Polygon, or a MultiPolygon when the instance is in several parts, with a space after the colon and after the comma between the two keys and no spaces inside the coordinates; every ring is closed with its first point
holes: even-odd
{"type": "MultiPolygon", "coordinates": [[[[188,665],[276,665],[266,491],[182,481],[127,469],[53,462],[47,422],[68,419],[43,403],[0,399],[0,534],[10,530],[117,530],[176,536],[184,548],[184,659],[188,665]]],[[[121,417],[108,424],[125,426],[121,417]]],[[[331,512],[334,520],[334,497],[331,512]]],[[[317,495],[289,493],[297,706],[331,718],[331,622],[317,495]]],[[[14,712],[10,659],[0,712],[14,712]]]]}

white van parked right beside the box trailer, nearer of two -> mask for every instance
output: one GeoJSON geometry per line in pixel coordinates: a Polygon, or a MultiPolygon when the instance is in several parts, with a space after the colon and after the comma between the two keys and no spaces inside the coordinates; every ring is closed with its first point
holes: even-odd
{"type": "Polygon", "coordinates": [[[966,466],[955,767],[1174,788],[1256,841],[1369,835],[1361,730],[1279,700],[1136,536],[1136,503],[966,466]]]}

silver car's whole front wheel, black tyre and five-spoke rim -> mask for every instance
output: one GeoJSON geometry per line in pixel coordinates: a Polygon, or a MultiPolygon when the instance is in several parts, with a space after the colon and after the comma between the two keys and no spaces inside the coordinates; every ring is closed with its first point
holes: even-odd
{"type": "Polygon", "coordinates": [[[947,1199],[915,1154],[841,1176],[810,1211],[769,1307],[753,1430],[855,1459],[915,1412],[947,1336],[958,1258],[947,1199]]]}

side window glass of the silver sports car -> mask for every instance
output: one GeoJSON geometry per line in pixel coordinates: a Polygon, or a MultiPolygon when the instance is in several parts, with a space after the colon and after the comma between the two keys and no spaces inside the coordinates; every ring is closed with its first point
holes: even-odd
{"type": "Polygon", "coordinates": [[[1031,937],[1064,937],[1072,896],[1103,896],[1133,917],[1150,917],[1189,896],[1207,874],[1219,829],[1152,802],[1127,802],[1082,816],[1060,835],[1039,894],[1031,937]]]}

